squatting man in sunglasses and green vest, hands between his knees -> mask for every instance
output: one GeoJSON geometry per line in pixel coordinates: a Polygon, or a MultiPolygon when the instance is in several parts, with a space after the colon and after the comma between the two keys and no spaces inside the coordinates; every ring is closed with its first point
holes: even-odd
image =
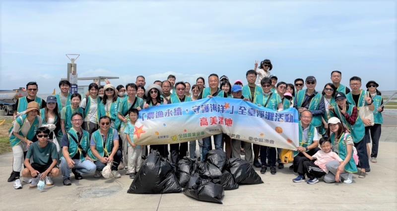
{"type": "Polygon", "coordinates": [[[99,119],[99,129],[92,133],[88,155],[96,165],[95,178],[101,177],[101,171],[107,163],[112,165],[113,176],[121,177],[117,169],[123,153],[119,150],[119,135],[117,130],[110,126],[109,116],[99,119]]]}

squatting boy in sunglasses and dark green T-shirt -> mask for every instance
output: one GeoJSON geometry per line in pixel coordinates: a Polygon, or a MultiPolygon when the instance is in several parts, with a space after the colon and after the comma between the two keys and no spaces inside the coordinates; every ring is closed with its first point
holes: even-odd
{"type": "Polygon", "coordinates": [[[56,167],[58,162],[57,147],[54,143],[48,141],[50,130],[47,127],[40,127],[36,131],[37,142],[30,145],[25,158],[25,166],[22,175],[24,177],[33,177],[29,188],[37,186],[39,180],[45,180],[46,185],[54,185],[51,177],[60,175],[59,168],[56,167]],[[30,163],[30,158],[33,162],[30,163]]]}

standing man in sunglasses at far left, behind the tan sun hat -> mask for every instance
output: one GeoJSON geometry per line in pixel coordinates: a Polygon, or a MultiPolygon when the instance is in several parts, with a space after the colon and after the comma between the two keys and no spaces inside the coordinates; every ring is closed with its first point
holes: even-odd
{"type": "Polygon", "coordinates": [[[36,102],[39,104],[39,108],[46,107],[46,102],[37,97],[37,91],[39,90],[37,83],[34,81],[31,81],[26,84],[26,93],[27,96],[18,98],[16,103],[12,106],[12,109],[14,110],[14,119],[16,118],[16,114],[23,112],[26,110],[28,104],[30,102],[36,102]]]}

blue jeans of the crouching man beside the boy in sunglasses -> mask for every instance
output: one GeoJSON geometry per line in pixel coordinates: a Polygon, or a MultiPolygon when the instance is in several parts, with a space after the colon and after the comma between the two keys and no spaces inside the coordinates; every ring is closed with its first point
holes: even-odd
{"type": "MultiPolygon", "coordinates": [[[[73,159],[74,163],[74,168],[76,169],[77,172],[80,174],[90,174],[94,173],[96,169],[96,165],[90,161],[90,160],[84,160],[81,162],[80,159],[73,159]]],[[[62,179],[69,178],[71,169],[67,165],[66,159],[62,158],[61,159],[61,172],[62,172],[62,179]]]]}

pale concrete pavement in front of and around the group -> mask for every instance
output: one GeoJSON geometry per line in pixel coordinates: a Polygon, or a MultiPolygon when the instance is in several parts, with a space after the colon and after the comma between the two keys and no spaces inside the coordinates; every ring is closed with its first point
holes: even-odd
{"type": "MultiPolygon", "coordinates": [[[[12,154],[0,156],[0,210],[396,210],[397,209],[397,127],[382,127],[377,163],[370,163],[365,179],[353,176],[353,183],[314,185],[293,183],[296,177],[286,168],[276,175],[260,174],[264,184],[241,185],[225,191],[223,205],[199,202],[178,194],[127,194],[132,182],[128,175],[120,179],[95,179],[86,176],[63,186],[61,177],[44,191],[14,190],[6,182],[12,169],[12,154]]],[[[259,168],[257,172],[259,173],[259,168]]],[[[120,171],[124,173],[124,170],[120,171]]]]}

